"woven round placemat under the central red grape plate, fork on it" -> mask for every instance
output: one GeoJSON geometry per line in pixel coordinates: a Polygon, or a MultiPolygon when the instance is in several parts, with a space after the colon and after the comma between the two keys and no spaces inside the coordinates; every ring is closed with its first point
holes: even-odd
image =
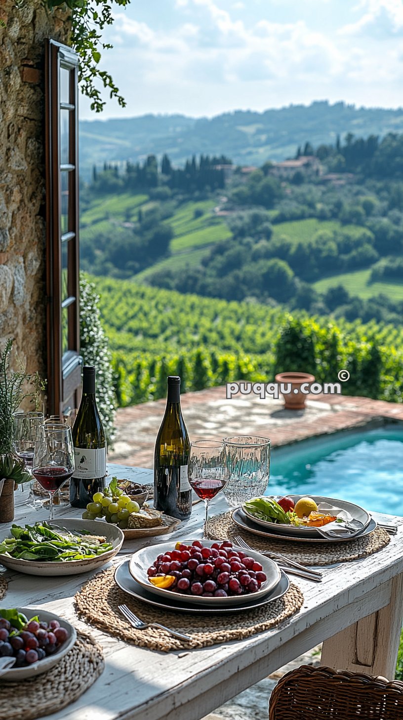
{"type": "Polygon", "coordinates": [[[125,642],[163,652],[242,640],[279,625],[298,612],[303,603],[304,595],[291,583],[289,590],[279,600],[273,600],[273,603],[245,613],[200,616],[196,613],[188,615],[162,608],[159,610],[120,590],[114,582],[113,567],[92,577],[76,595],[78,614],[86,622],[125,642]],[[166,625],[172,630],[189,635],[191,641],[178,640],[166,631],[156,628],[133,628],[118,610],[118,606],[123,603],[142,621],[166,625]]]}

